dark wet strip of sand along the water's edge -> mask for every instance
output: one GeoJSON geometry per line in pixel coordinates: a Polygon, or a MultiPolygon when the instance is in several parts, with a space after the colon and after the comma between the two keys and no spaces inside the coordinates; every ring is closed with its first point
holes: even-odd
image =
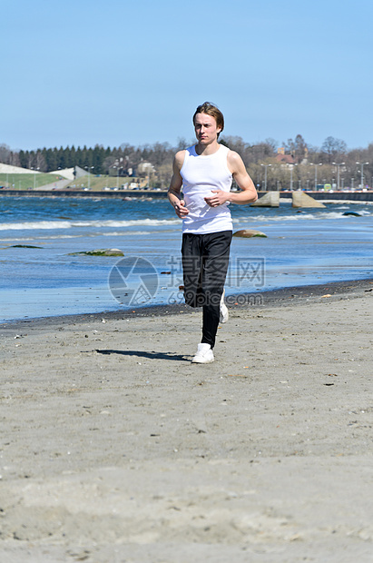
{"type": "MultiPolygon", "coordinates": [[[[357,294],[364,294],[365,291],[373,291],[373,276],[371,279],[318,283],[311,285],[299,285],[285,287],[270,291],[256,291],[248,293],[240,293],[250,301],[249,304],[240,304],[234,302],[237,295],[229,295],[228,304],[229,311],[253,311],[266,309],[270,307],[283,307],[290,304],[306,304],[309,301],[319,301],[326,299],[326,295],[331,298],[340,298],[342,295],[355,297],[357,294]],[[252,298],[252,299],[251,299],[252,298]],[[256,301],[256,302],[255,302],[256,301]]],[[[139,307],[132,311],[99,311],[88,313],[77,313],[67,315],[54,315],[48,317],[34,317],[31,319],[15,319],[12,321],[0,322],[0,336],[7,330],[22,331],[28,327],[34,329],[51,327],[54,325],[69,325],[72,323],[84,323],[92,321],[117,321],[123,319],[136,319],[144,317],[164,317],[177,313],[192,313],[201,311],[201,309],[191,309],[185,303],[173,305],[149,305],[147,307],[139,307]]]]}

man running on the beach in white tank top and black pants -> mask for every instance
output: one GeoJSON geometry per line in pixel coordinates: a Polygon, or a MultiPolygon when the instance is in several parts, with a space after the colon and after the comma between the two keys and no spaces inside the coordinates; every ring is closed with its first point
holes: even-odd
{"type": "Polygon", "coordinates": [[[240,155],[218,142],[221,111],[205,102],[193,124],[197,144],[175,154],[168,198],[182,219],[185,302],[203,311],[201,343],[192,362],[210,363],[219,322],[228,320],[223,293],[232,237],[228,206],[255,202],[258,194],[240,155]],[[240,192],[231,192],[232,178],[240,192]]]}

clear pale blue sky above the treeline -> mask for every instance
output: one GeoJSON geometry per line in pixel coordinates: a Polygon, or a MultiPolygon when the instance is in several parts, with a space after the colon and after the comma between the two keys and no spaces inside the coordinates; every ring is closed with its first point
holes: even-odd
{"type": "Polygon", "coordinates": [[[227,135],[373,142],[373,2],[3,0],[0,143],[177,143],[198,104],[227,135]]]}

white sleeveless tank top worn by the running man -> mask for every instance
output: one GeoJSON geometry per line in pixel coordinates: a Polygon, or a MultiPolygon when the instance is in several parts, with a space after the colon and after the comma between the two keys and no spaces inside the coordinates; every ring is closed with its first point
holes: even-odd
{"type": "Polygon", "coordinates": [[[182,232],[203,234],[232,230],[229,202],[210,207],[203,199],[211,195],[211,190],[231,191],[232,175],[227,163],[229,150],[220,144],[216,153],[203,156],[196,153],[195,146],[186,149],[180,173],[189,213],[182,220],[182,232]]]}

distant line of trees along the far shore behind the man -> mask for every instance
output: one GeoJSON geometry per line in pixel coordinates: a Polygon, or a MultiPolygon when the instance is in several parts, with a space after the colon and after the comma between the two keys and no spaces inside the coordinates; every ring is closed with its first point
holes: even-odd
{"type": "MultiPolygon", "coordinates": [[[[343,163],[339,173],[345,173],[349,178],[358,180],[358,163],[364,163],[364,176],[367,181],[373,175],[373,143],[368,148],[348,150],[344,141],[328,137],[321,147],[314,147],[305,142],[302,135],[295,139],[288,139],[279,145],[273,139],[266,139],[261,143],[246,143],[240,137],[221,137],[220,142],[237,151],[243,159],[249,173],[256,183],[262,182],[264,166],[270,164],[267,170],[269,187],[275,182],[287,182],[284,163],[293,163],[294,180],[306,182],[312,177],[304,166],[309,163],[325,164],[323,172],[326,181],[332,182],[336,167],[333,163],[343,163]],[[288,161],[280,162],[280,155],[284,153],[290,157],[288,161]],[[280,167],[282,170],[280,171],[280,167]]],[[[177,146],[170,143],[153,143],[133,146],[123,143],[120,147],[107,147],[96,144],[93,148],[73,146],[43,148],[35,151],[12,151],[6,144],[0,144],[0,162],[34,169],[40,172],[52,172],[58,169],[80,166],[94,174],[112,174],[126,176],[141,170],[141,163],[151,163],[153,167],[152,181],[165,187],[172,174],[172,160],[174,153],[185,148],[188,143],[180,139],[177,146]]],[[[286,168],[286,167],[285,167],[286,168]]],[[[149,173],[149,169],[146,173],[149,173]]],[[[144,172],[138,175],[145,174],[144,172]]],[[[320,177],[320,176],[319,176],[320,177]]]]}

